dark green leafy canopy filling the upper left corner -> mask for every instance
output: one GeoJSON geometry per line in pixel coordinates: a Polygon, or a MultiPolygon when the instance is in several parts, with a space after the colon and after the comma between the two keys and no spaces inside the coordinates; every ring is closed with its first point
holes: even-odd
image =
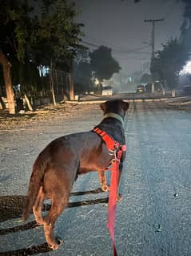
{"type": "Polygon", "coordinates": [[[27,1],[1,2],[1,40],[3,52],[21,63],[75,55],[81,41],[82,24],[74,22],[77,11],[66,0],[35,1],[40,13],[27,1]]]}

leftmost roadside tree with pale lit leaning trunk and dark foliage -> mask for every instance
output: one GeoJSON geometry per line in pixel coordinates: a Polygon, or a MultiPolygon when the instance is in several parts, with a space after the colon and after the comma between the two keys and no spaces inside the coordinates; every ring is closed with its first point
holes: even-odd
{"type": "Polygon", "coordinates": [[[14,85],[20,83],[22,89],[26,88],[31,71],[37,70],[34,63],[30,63],[33,59],[32,46],[37,20],[31,15],[32,10],[26,1],[8,0],[0,4],[0,63],[4,71],[6,96],[11,113],[15,112],[13,82],[14,85]]]}

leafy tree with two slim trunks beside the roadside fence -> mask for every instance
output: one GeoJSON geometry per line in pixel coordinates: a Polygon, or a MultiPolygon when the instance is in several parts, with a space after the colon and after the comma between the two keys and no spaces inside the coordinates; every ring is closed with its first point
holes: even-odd
{"type": "MultiPolygon", "coordinates": [[[[74,17],[77,11],[74,4],[68,5],[66,0],[57,0],[49,5],[46,2],[46,10],[43,10],[42,18],[39,24],[38,36],[40,43],[46,51],[45,59],[50,63],[50,81],[51,89],[54,97],[53,69],[62,59],[68,59],[70,67],[70,100],[74,98],[74,75],[73,75],[73,59],[78,48],[82,47],[78,43],[81,42],[80,36],[82,23],[75,23],[74,17]]],[[[38,40],[39,40],[38,39],[38,40]]],[[[42,49],[42,51],[43,51],[42,49]]]]}

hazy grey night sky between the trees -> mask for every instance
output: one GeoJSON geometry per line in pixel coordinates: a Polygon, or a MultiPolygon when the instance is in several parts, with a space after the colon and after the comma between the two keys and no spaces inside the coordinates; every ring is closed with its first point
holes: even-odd
{"type": "Polygon", "coordinates": [[[161,49],[161,43],[180,35],[184,5],[177,0],[141,0],[136,4],[133,0],[74,2],[82,10],[78,22],[85,24],[83,41],[95,45],[86,46],[91,51],[100,45],[111,47],[113,57],[126,74],[141,70],[143,63],[150,59],[151,47],[143,42],[151,41],[152,23],[144,22],[145,19],[165,18],[156,22],[155,51],[161,49]]]}

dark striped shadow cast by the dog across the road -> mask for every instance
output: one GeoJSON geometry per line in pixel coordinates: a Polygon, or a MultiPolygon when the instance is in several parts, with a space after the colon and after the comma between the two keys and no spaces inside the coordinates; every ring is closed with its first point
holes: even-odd
{"type": "MultiPolygon", "coordinates": [[[[86,194],[97,194],[103,193],[101,189],[94,189],[82,192],[72,192],[70,196],[82,196],[86,194]]],[[[106,204],[108,203],[109,198],[98,198],[94,200],[82,200],[76,202],[69,202],[68,207],[79,207],[84,205],[97,205],[97,204],[106,204]]],[[[22,209],[26,202],[26,196],[5,196],[0,197],[0,222],[7,221],[14,218],[22,217],[22,209]]],[[[49,211],[51,205],[45,204],[43,205],[43,211],[49,211]]],[[[18,221],[19,222],[19,221],[18,221]]],[[[16,223],[16,221],[15,221],[16,223]]],[[[30,221],[26,224],[10,227],[7,229],[0,230],[0,235],[10,234],[18,231],[31,230],[38,226],[36,221],[30,221]]],[[[0,252],[0,256],[10,256],[10,255],[32,255],[32,254],[40,254],[50,251],[51,249],[47,246],[46,243],[38,246],[30,246],[21,250],[13,250],[7,252],[0,252]]]]}

